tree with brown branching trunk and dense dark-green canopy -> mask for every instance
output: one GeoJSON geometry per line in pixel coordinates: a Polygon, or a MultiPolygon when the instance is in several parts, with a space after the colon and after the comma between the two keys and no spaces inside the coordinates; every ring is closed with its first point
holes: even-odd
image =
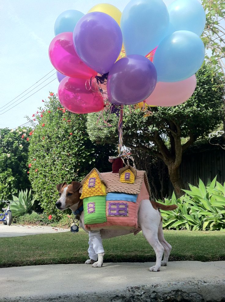
{"type": "MultiPolygon", "coordinates": [[[[174,107],[152,107],[153,115],[144,117],[140,110],[125,107],[123,120],[124,144],[132,150],[143,151],[162,159],[178,196],[183,194],[180,164],[183,152],[196,140],[207,136],[221,123],[223,79],[216,69],[204,64],[197,72],[197,87],[185,103],[174,107]]],[[[92,141],[118,143],[117,118],[110,115],[113,127],[96,126],[97,116],[88,115],[87,130],[92,141]]],[[[143,159],[145,161],[145,159],[143,159]]]]}

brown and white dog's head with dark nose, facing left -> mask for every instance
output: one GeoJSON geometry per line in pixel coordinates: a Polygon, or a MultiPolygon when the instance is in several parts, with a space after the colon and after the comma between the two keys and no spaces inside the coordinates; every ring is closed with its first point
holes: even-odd
{"type": "Polygon", "coordinates": [[[66,182],[58,184],[56,186],[59,192],[59,199],[56,202],[57,209],[64,211],[73,207],[75,204],[79,204],[80,196],[79,189],[81,188],[80,182],[72,182],[67,185],[66,182]]]}

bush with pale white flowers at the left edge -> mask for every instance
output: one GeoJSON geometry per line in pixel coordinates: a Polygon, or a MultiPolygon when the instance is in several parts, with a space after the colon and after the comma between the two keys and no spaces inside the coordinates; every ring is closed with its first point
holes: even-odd
{"type": "Polygon", "coordinates": [[[27,174],[29,132],[25,127],[0,129],[0,201],[31,187],[27,174]]]}

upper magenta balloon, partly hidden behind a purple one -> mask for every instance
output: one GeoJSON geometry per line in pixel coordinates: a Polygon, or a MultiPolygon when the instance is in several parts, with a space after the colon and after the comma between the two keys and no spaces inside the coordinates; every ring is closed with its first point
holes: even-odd
{"type": "Polygon", "coordinates": [[[78,78],[91,78],[97,72],[88,67],[78,57],[73,47],[72,32],[62,32],[54,37],[49,46],[52,65],[64,75],[78,78]]]}

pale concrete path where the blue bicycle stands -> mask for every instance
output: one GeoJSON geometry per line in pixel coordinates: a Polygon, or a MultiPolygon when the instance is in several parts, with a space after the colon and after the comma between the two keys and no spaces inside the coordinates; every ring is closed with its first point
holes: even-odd
{"type": "Polygon", "coordinates": [[[47,234],[47,233],[60,233],[68,232],[69,229],[64,229],[61,227],[49,227],[42,225],[4,225],[0,224],[0,237],[16,237],[25,235],[35,235],[35,234],[47,234]]]}

